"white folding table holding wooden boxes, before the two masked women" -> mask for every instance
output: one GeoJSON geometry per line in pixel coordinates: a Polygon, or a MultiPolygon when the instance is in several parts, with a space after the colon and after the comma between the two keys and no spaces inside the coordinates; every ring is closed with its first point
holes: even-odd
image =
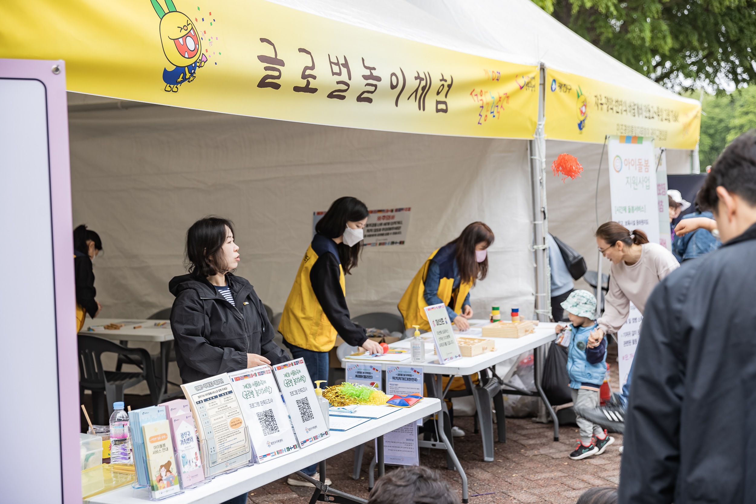
{"type": "MultiPolygon", "coordinates": [[[[488,320],[470,320],[471,326],[482,326],[488,323],[488,320]]],[[[515,395],[526,395],[531,397],[540,397],[541,400],[544,401],[544,404],[546,405],[546,409],[551,415],[551,418],[554,422],[554,441],[559,441],[559,422],[556,419],[556,413],[554,413],[554,410],[552,409],[551,405],[549,404],[549,401],[546,398],[546,394],[544,394],[543,388],[541,388],[541,382],[538,380],[538,363],[540,362],[540,353],[543,350],[543,346],[547,345],[548,343],[552,342],[554,339],[556,339],[556,333],[554,332],[554,329],[556,327],[556,323],[545,323],[541,322],[538,324],[538,326],[535,327],[534,332],[528,335],[524,335],[521,338],[488,338],[491,339],[495,344],[495,351],[489,351],[485,354],[477,355],[476,357],[462,357],[460,359],[454,360],[450,363],[446,364],[439,364],[438,363],[438,357],[434,354],[426,354],[426,362],[424,363],[413,363],[411,360],[409,360],[409,357],[407,357],[407,360],[401,361],[401,362],[381,362],[380,360],[375,359],[360,359],[360,358],[348,358],[342,361],[342,366],[346,367],[347,363],[370,363],[373,366],[377,366],[378,364],[381,365],[381,369],[383,371],[386,371],[387,366],[413,366],[413,367],[422,367],[423,373],[428,376],[432,375],[432,379],[426,381],[426,385],[428,386],[428,394],[431,397],[437,397],[438,399],[444,399],[449,388],[451,387],[451,379],[446,385],[446,388],[442,387],[442,375],[449,375],[449,376],[463,376],[466,381],[469,381],[469,376],[473,375],[475,373],[479,373],[484,369],[492,368],[493,366],[496,366],[496,364],[503,362],[504,360],[509,359],[510,357],[516,357],[519,354],[522,354],[525,351],[532,350],[533,351],[533,363],[534,363],[534,382],[537,389],[537,392],[530,392],[525,391],[519,388],[514,388],[513,385],[509,385],[506,383],[503,383],[500,381],[500,379],[495,376],[495,373],[491,371],[492,373],[492,380],[497,381],[497,386],[499,384],[505,385],[508,388],[503,388],[502,391],[506,394],[515,394],[515,395]]],[[[425,334],[426,336],[429,335],[429,333],[425,334]]],[[[455,335],[457,337],[465,337],[468,336],[465,332],[455,332],[455,335]]],[[[481,338],[480,335],[472,335],[470,334],[469,337],[473,338],[481,338]]],[[[432,341],[426,340],[427,341],[432,341]]],[[[389,348],[410,348],[410,340],[404,339],[401,342],[392,343],[389,345],[389,348]]],[[[494,385],[494,383],[491,383],[491,385],[494,385]]],[[[469,382],[469,385],[471,385],[471,382],[469,382]]],[[[479,385],[481,386],[482,383],[479,385]]],[[[483,411],[483,408],[486,408],[490,410],[488,404],[479,404],[479,397],[477,394],[473,394],[473,397],[476,400],[476,407],[479,412],[483,411]]],[[[462,495],[463,499],[467,498],[467,478],[465,476],[464,470],[462,468],[462,465],[460,464],[459,459],[457,459],[456,453],[454,453],[454,445],[450,442],[448,439],[447,434],[444,431],[444,424],[443,424],[443,417],[444,413],[448,414],[446,404],[442,401],[442,413],[438,414],[438,420],[436,425],[436,432],[438,433],[438,438],[440,442],[432,442],[432,441],[420,441],[421,447],[426,448],[436,448],[441,450],[446,450],[448,453],[448,458],[453,462],[454,467],[457,468],[457,472],[460,473],[460,477],[462,478],[462,495]]],[[[490,413],[490,411],[489,411],[490,413]]],[[[494,461],[494,440],[493,440],[493,425],[491,422],[491,416],[488,415],[488,424],[491,425],[485,425],[485,422],[482,420],[482,415],[479,414],[479,425],[481,427],[481,438],[483,441],[483,452],[484,452],[484,461],[485,462],[493,462],[494,461]]],[[[450,466],[451,468],[451,466],[450,466]]],[[[463,500],[463,502],[466,502],[463,500]]]]}

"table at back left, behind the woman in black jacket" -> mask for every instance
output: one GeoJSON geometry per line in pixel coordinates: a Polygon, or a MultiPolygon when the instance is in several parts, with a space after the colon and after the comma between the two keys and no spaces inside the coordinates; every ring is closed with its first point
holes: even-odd
{"type": "MultiPolygon", "coordinates": [[[[91,319],[89,316],[84,321],[84,326],[79,334],[88,336],[97,336],[98,338],[108,339],[112,342],[157,342],[160,343],[160,369],[155,369],[158,382],[159,402],[170,399],[168,394],[168,361],[173,345],[173,332],[169,320],[144,320],[138,318],[96,318],[91,319]],[[104,329],[110,323],[121,324],[121,329],[104,329]],[[157,324],[164,323],[163,326],[157,324]],[[141,326],[134,329],[135,326],[141,326]],[[88,330],[91,328],[93,330],[88,330]]],[[[175,395],[181,395],[180,392],[175,395]]]]}

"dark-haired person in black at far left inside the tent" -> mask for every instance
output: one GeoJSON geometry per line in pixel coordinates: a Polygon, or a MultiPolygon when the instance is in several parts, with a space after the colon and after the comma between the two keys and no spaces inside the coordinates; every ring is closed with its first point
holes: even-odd
{"type": "Polygon", "coordinates": [[[76,280],[76,331],[82,330],[86,314],[95,318],[100,314],[102,305],[95,300],[95,272],[92,271],[92,259],[102,250],[100,235],[87,229],[85,224],[73,230],[73,271],[76,280]]]}

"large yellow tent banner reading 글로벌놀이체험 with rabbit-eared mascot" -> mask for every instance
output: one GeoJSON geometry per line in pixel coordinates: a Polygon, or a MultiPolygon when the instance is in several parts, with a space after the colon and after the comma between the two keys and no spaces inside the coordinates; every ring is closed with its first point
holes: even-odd
{"type": "Polygon", "coordinates": [[[67,89],[247,116],[531,138],[538,68],[262,0],[7,0],[0,57],[65,60],[67,89]]]}

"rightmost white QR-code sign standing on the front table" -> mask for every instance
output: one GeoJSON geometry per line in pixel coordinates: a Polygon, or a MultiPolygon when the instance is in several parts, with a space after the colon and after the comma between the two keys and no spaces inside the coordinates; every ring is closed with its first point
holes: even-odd
{"type": "Polygon", "coordinates": [[[304,448],[327,438],[326,419],[318,404],[305,360],[299,358],[274,364],[273,374],[291,417],[299,447],[304,448]]]}

